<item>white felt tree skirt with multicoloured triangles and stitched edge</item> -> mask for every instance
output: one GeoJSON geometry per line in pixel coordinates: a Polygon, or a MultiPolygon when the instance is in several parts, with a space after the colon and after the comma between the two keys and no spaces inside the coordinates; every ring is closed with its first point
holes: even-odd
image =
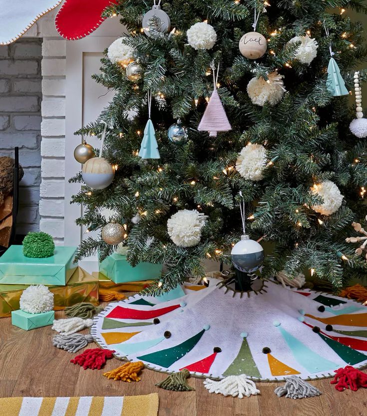
{"type": "Polygon", "coordinates": [[[117,358],[198,377],[317,379],[367,365],[366,306],[273,281],[261,293],[233,297],[219,282],[110,303],[91,334],[117,358]]]}

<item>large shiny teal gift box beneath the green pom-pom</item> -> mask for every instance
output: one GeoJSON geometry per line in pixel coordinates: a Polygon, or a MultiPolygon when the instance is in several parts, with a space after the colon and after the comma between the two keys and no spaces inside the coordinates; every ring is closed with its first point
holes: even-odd
{"type": "Polygon", "coordinates": [[[23,246],[10,246],[0,257],[0,284],[65,286],[77,265],[76,247],[56,247],[53,256],[35,259],[23,255],[23,246]]]}

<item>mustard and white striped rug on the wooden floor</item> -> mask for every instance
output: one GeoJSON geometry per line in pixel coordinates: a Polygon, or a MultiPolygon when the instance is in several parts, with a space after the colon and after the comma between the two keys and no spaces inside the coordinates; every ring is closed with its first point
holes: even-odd
{"type": "Polygon", "coordinates": [[[11,397],[0,416],[157,416],[158,394],[125,397],[11,397]]]}

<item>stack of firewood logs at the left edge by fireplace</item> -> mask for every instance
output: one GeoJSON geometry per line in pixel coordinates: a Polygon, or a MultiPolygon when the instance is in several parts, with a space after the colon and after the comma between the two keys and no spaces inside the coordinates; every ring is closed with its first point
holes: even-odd
{"type": "MultiPolygon", "coordinates": [[[[11,235],[13,172],[14,159],[6,156],[0,157],[0,246],[3,247],[8,247],[11,235]]],[[[19,181],[23,175],[23,169],[19,166],[19,181]]]]}

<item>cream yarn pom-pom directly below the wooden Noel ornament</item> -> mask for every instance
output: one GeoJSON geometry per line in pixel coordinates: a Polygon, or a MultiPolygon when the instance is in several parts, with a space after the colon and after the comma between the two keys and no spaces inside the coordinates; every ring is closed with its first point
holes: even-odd
{"type": "Polygon", "coordinates": [[[284,75],[279,75],[277,71],[271,72],[267,81],[262,76],[252,78],[247,85],[251,101],[257,105],[264,105],[266,101],[270,105],[278,104],[285,92],[282,78],[284,75]]]}

